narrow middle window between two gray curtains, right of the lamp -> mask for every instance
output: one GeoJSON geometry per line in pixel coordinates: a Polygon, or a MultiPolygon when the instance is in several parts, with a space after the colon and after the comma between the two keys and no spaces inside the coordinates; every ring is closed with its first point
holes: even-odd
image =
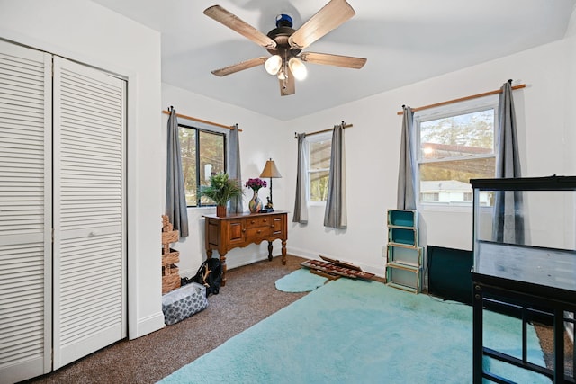
{"type": "Polygon", "coordinates": [[[308,201],[327,201],[332,133],[326,132],[308,140],[308,201]]]}

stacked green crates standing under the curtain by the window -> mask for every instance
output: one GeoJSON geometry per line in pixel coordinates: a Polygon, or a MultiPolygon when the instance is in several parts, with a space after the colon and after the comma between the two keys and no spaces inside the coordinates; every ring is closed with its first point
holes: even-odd
{"type": "Polygon", "coordinates": [[[419,293],[422,290],[423,248],[418,240],[416,210],[388,210],[386,283],[419,293]]]}

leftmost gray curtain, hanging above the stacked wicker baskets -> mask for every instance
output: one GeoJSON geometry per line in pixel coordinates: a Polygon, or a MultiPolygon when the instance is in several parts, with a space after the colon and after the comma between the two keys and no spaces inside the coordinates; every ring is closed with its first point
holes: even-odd
{"type": "Polygon", "coordinates": [[[176,111],[170,107],[168,118],[167,161],[166,161],[166,215],[180,231],[180,237],[188,236],[188,211],[184,191],[184,174],[180,157],[180,140],[178,139],[178,121],[176,111]]]}

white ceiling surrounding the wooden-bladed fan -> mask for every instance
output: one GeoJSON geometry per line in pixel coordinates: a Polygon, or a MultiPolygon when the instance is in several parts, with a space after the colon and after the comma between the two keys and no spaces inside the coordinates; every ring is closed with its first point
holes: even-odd
{"type": "Polygon", "coordinates": [[[307,64],[280,96],[263,66],[212,69],[268,56],[202,12],[220,4],[265,34],[288,13],[298,29],[328,0],[93,0],[162,33],[162,82],[287,121],[562,39],[576,0],[347,0],[356,16],[304,51],[367,58],[364,68],[307,64]]]}

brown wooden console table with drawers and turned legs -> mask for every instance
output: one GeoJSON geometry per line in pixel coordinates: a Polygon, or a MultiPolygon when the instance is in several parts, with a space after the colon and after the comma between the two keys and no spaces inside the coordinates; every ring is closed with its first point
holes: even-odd
{"type": "Polygon", "coordinates": [[[202,215],[205,218],[206,255],[215,249],[222,263],[222,283],[226,285],[226,254],[230,249],[268,242],[268,260],[272,260],[272,242],[282,240],[282,263],[286,264],[288,212],[240,213],[226,217],[202,215]]]}

